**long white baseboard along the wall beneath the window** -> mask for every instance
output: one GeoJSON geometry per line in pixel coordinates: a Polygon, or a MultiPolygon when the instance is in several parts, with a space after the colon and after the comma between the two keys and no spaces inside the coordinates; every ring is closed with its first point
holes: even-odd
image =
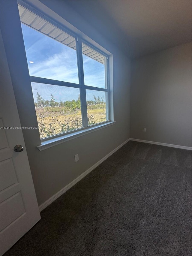
{"type": "Polygon", "coordinates": [[[121,145],[119,145],[116,149],[113,149],[109,154],[107,154],[104,158],[102,158],[100,161],[98,161],[96,164],[91,166],[88,170],[86,170],[84,173],[79,175],[76,179],[74,179],[72,182],[70,182],[68,185],[66,185],[64,188],[62,188],[60,191],[58,191],[56,194],[54,194],[52,197],[50,197],[48,200],[46,200],[44,203],[42,203],[39,206],[39,211],[41,212],[43,209],[45,209],[49,204],[51,204],[53,201],[55,201],[58,197],[60,197],[62,194],[64,194],[68,189],[73,187],[79,180],[84,178],[88,173],[90,173],[92,170],[94,170],[99,164],[101,164],[103,161],[105,161],[110,155],[115,153],[118,149],[120,149],[123,145],[125,145],[130,139],[124,141],[121,145]]]}

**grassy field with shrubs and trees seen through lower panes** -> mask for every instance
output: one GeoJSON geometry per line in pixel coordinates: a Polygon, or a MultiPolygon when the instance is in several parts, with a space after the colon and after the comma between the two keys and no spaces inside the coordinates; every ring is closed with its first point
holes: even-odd
{"type": "MultiPolygon", "coordinates": [[[[57,102],[54,95],[45,100],[37,92],[35,110],[41,138],[82,127],[80,95],[77,100],[57,102]]],[[[87,101],[87,112],[88,125],[106,121],[105,98],[94,96],[94,101],[87,101]]]]}

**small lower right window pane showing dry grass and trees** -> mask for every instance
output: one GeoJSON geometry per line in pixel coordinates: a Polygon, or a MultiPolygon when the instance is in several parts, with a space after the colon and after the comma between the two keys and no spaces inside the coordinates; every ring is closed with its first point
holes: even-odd
{"type": "Polygon", "coordinates": [[[86,90],[88,125],[107,121],[107,92],[86,90]]]}

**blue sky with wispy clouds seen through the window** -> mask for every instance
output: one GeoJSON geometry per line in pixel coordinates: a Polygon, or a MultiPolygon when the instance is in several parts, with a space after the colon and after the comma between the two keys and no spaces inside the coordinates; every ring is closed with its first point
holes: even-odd
{"type": "MultiPolygon", "coordinates": [[[[79,83],[76,50],[61,44],[46,35],[22,24],[29,74],[70,83],[79,83]],[[33,63],[30,63],[32,61],[33,63]]],[[[85,85],[105,88],[104,64],[83,55],[85,85]]],[[[37,92],[46,99],[53,94],[56,101],[76,100],[78,88],[52,86],[32,83],[33,97],[37,92]]],[[[101,96],[103,92],[87,90],[87,100],[94,100],[93,95],[101,96]]]]}

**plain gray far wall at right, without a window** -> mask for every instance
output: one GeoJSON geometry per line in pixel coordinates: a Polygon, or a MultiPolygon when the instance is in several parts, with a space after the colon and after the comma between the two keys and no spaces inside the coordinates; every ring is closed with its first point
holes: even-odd
{"type": "Polygon", "coordinates": [[[131,68],[130,137],[191,146],[191,43],[136,59],[131,68]]]}

